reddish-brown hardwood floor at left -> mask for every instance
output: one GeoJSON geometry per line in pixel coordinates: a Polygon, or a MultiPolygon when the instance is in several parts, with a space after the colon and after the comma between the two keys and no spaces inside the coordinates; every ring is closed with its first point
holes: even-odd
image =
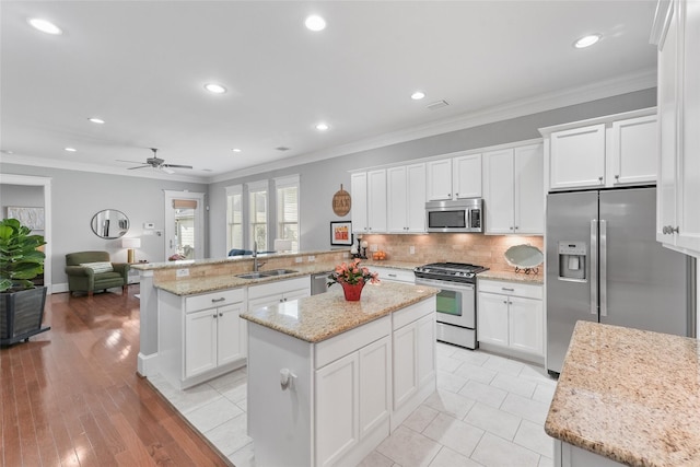
{"type": "Polygon", "coordinates": [[[230,465],[136,374],[139,301],[47,296],[39,334],[0,349],[0,466],[230,465]]]}

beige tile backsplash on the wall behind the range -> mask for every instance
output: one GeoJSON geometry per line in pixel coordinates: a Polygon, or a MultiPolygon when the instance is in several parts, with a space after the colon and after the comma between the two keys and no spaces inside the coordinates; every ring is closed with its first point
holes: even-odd
{"type": "MultiPolygon", "coordinates": [[[[544,250],[544,237],[539,235],[482,235],[482,234],[417,234],[417,235],[363,235],[370,245],[368,257],[372,257],[372,246],[386,252],[387,259],[410,262],[471,262],[487,266],[497,271],[512,271],[503,257],[514,245],[532,245],[544,250]],[[411,254],[411,246],[415,253],[411,254]]],[[[544,272],[544,265],[539,267],[544,272]]]]}

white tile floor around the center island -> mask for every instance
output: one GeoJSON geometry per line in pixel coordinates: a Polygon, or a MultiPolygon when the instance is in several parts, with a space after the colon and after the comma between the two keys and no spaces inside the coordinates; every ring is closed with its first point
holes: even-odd
{"type": "MultiPolygon", "coordinates": [[[[255,466],[245,369],[186,390],[150,381],[236,467],[255,466]]],[[[438,390],[361,466],[551,466],[556,384],[541,366],[438,342],[438,390]]]]}

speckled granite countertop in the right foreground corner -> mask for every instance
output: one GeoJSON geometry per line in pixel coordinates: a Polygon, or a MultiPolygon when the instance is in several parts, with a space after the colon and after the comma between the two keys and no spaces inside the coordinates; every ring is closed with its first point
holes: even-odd
{"type": "Polygon", "coordinates": [[[579,322],[545,431],[631,466],[699,465],[699,341],[579,322]]]}

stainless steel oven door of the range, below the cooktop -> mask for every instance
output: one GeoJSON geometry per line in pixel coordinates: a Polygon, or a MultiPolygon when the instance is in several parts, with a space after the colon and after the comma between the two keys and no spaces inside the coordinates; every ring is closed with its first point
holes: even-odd
{"type": "Polygon", "coordinates": [[[417,284],[440,289],[438,293],[438,323],[476,328],[476,296],[471,283],[456,283],[416,278],[417,284]]]}

